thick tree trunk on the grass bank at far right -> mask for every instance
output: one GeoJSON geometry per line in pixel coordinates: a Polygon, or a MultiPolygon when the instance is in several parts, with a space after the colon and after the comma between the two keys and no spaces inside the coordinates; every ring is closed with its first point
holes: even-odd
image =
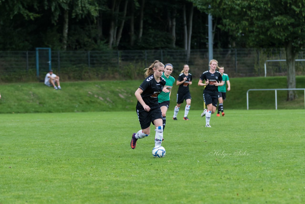
{"type": "MultiPolygon", "coordinates": [[[[286,63],[287,63],[287,88],[296,88],[295,60],[297,53],[294,51],[291,41],[286,45],[285,49],[286,49],[286,63]]],[[[287,101],[292,101],[296,98],[297,98],[296,91],[288,91],[287,101]]]]}

